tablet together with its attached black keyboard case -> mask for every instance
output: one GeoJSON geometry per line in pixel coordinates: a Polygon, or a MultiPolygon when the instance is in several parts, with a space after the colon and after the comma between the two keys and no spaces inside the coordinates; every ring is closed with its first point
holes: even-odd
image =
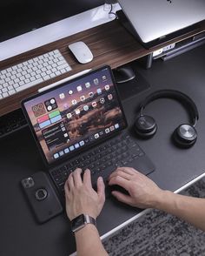
{"type": "Polygon", "coordinates": [[[59,192],[76,167],[89,168],[92,183],[117,166],[148,175],[155,166],[127,131],[109,66],[59,84],[22,102],[39,152],[59,192]]]}

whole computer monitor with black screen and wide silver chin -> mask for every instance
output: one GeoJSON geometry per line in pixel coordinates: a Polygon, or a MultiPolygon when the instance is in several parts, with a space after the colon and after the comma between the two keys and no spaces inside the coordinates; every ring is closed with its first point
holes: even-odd
{"type": "MultiPolygon", "coordinates": [[[[113,20],[105,0],[3,0],[0,61],[113,20]]],[[[113,11],[119,10],[113,6],[113,11]]]]}

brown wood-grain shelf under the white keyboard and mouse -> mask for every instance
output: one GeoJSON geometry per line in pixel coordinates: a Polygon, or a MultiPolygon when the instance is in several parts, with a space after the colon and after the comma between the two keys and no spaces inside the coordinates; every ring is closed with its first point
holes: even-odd
{"type": "MultiPolygon", "coordinates": [[[[175,40],[171,40],[166,44],[182,41],[187,37],[191,37],[199,32],[205,30],[205,22],[200,25],[198,29],[188,32],[181,37],[176,37],[175,40]]],[[[25,43],[26,44],[26,43],[25,43]]],[[[161,48],[166,44],[158,45],[157,47],[146,50],[136,41],[136,38],[131,36],[127,30],[125,30],[117,20],[108,24],[102,24],[96,28],[85,30],[70,37],[63,38],[54,43],[44,45],[36,48],[35,50],[25,52],[16,57],[11,57],[0,63],[0,70],[10,67],[11,65],[22,63],[32,57],[39,56],[48,51],[58,49],[62,52],[63,56],[67,59],[72,71],[69,71],[62,76],[50,79],[42,84],[31,87],[25,91],[20,91],[10,98],[4,98],[0,100],[0,116],[3,114],[14,111],[20,107],[20,102],[23,98],[27,98],[30,94],[36,93],[36,91],[48,84],[55,83],[56,81],[68,77],[78,71],[83,71],[90,68],[96,68],[102,64],[109,64],[111,68],[116,68],[122,64],[127,64],[137,58],[148,55],[150,52],[161,48]],[[68,44],[76,41],[83,41],[89,45],[90,50],[93,52],[94,60],[89,64],[78,64],[76,59],[71,55],[68,50],[68,44]]]]}

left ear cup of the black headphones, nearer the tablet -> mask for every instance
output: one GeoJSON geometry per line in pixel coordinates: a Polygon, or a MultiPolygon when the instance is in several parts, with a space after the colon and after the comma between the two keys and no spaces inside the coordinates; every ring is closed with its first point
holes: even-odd
{"type": "Polygon", "coordinates": [[[141,138],[151,138],[157,130],[155,119],[149,116],[140,116],[135,122],[136,134],[141,138]]]}

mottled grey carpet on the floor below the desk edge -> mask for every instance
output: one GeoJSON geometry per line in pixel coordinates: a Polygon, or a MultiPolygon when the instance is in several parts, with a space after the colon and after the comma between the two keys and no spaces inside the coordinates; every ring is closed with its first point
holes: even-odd
{"type": "MultiPolygon", "coordinates": [[[[205,179],[181,192],[205,198],[205,179]]],[[[205,232],[158,210],[151,210],[103,241],[110,256],[205,255],[205,232]]]]}

